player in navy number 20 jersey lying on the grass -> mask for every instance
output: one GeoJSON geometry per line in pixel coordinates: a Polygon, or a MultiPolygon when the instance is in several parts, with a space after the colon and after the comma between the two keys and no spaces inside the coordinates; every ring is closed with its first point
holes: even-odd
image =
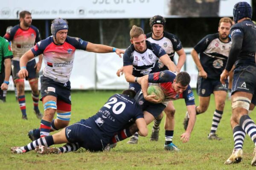
{"type": "MultiPolygon", "coordinates": [[[[105,105],[88,119],[65,127],[60,132],[37,139],[23,147],[12,147],[13,153],[25,153],[37,146],[39,153],[65,153],[84,147],[90,151],[103,151],[111,138],[125,126],[135,122],[141,136],[147,136],[148,129],[143,112],[136,103],[136,92],[129,89],[111,96],[105,105]],[[59,148],[47,148],[52,144],[67,143],[59,148]]],[[[129,130],[126,131],[129,135],[129,130]]]]}

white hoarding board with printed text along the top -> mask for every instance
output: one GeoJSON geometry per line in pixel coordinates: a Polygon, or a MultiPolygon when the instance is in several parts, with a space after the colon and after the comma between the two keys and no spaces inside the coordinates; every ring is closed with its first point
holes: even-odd
{"type": "MultiPolygon", "coordinates": [[[[111,19],[163,17],[231,17],[240,0],[5,0],[0,20],[18,19],[20,11],[33,19],[111,19]],[[189,1],[189,3],[188,3],[189,1]]],[[[251,0],[243,0],[251,4],[251,0]]]]}

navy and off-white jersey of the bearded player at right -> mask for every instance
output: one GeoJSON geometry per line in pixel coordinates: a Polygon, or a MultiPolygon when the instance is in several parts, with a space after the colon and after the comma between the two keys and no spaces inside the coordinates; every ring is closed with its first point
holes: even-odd
{"type": "Polygon", "coordinates": [[[207,35],[195,45],[194,49],[200,54],[200,62],[204,71],[207,72],[207,78],[220,78],[227,64],[231,44],[230,38],[229,42],[222,42],[219,39],[219,34],[216,33],[207,35]]]}

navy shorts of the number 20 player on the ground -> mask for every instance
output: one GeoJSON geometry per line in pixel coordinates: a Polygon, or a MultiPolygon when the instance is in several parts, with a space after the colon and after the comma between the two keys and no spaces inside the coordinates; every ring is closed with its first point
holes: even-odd
{"type": "Polygon", "coordinates": [[[70,143],[79,143],[80,147],[84,147],[86,150],[103,151],[107,143],[104,143],[93,131],[92,127],[89,127],[86,120],[81,119],[80,122],[76,122],[73,125],[65,128],[66,138],[70,143]]]}

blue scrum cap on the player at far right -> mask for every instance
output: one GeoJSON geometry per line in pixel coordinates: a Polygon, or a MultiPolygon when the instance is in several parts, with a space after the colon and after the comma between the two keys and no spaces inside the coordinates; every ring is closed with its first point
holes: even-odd
{"type": "Polygon", "coordinates": [[[236,3],[233,8],[234,22],[237,23],[237,21],[245,17],[252,18],[252,7],[247,2],[236,3]]]}

